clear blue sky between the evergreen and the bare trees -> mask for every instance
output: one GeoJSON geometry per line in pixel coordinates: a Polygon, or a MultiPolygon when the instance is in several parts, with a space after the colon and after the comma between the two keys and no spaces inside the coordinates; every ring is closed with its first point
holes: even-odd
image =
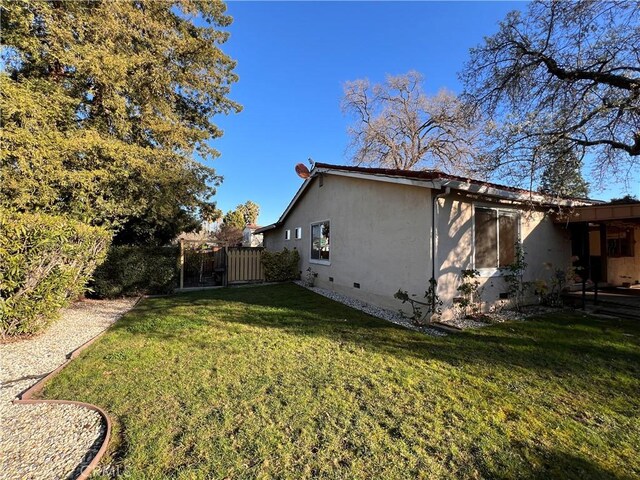
{"type": "MultiPolygon", "coordinates": [[[[211,162],[224,176],[223,211],[246,200],[262,225],[277,220],[302,180],[298,162],[349,163],[342,84],[417,70],[425,89],[459,92],[469,48],[495,33],[522,2],[230,2],[223,50],[240,76],[231,97],[244,110],[215,123],[224,136],[211,162]]],[[[612,189],[594,196],[609,198],[612,189]]]]}

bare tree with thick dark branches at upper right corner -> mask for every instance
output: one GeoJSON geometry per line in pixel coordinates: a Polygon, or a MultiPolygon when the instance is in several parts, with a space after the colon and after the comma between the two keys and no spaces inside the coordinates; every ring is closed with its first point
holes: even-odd
{"type": "Polygon", "coordinates": [[[471,50],[463,98],[488,119],[481,169],[539,180],[569,146],[594,176],[634,179],[640,159],[640,3],[535,1],[471,50]],[[556,157],[557,158],[557,157],[556,157]]]}

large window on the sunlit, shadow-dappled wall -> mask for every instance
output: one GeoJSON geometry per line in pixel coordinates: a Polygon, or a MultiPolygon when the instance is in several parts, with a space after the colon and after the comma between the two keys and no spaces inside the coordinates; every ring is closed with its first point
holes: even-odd
{"type": "Polygon", "coordinates": [[[475,268],[496,269],[514,262],[519,220],[508,210],[475,209],[475,268]]]}

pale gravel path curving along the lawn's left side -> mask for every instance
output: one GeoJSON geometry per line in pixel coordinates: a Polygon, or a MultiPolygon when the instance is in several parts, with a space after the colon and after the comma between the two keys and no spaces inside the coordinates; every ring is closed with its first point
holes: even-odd
{"type": "Polygon", "coordinates": [[[97,412],[76,405],[14,405],[21,392],[130,310],[136,299],[84,300],[41,335],[0,345],[0,479],[73,478],[100,447],[97,412]]]}

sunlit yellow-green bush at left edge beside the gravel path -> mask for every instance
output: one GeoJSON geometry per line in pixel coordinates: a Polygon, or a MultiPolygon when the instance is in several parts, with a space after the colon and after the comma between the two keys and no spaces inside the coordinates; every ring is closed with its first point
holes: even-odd
{"type": "Polygon", "coordinates": [[[0,208],[0,335],[34,334],[86,289],[111,233],[66,217],[0,208]]]}

